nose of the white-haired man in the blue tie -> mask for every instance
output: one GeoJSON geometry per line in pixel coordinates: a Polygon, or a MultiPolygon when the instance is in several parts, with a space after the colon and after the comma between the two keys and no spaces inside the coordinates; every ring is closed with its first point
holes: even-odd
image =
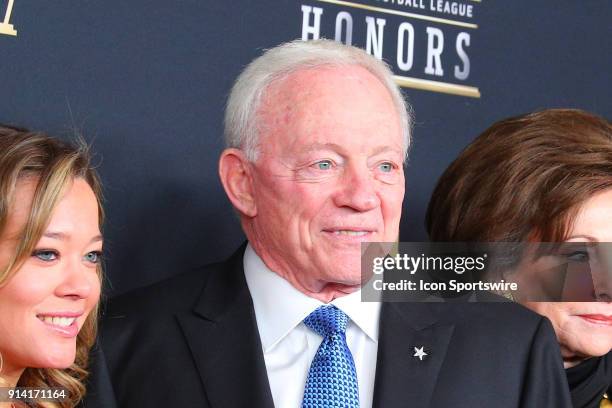
{"type": "Polygon", "coordinates": [[[338,207],[349,207],[364,212],[380,206],[376,180],[373,179],[367,166],[347,166],[339,183],[341,186],[334,197],[338,207]]]}

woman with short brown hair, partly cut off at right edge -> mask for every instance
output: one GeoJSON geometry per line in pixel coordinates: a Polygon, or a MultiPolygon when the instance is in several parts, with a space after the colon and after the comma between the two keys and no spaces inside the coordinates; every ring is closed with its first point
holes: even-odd
{"type": "MultiPolygon", "coordinates": [[[[603,243],[612,242],[612,125],[572,109],[497,122],[441,176],[426,225],[432,241],[553,242],[606,252],[603,243]]],[[[532,253],[526,269],[542,259],[532,253]]],[[[609,404],[609,266],[599,272],[603,278],[593,276],[591,302],[516,299],[553,323],[577,408],[609,404]]]]}

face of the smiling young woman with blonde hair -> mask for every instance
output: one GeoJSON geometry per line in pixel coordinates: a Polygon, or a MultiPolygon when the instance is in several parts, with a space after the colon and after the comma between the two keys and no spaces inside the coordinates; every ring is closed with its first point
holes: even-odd
{"type": "MultiPolygon", "coordinates": [[[[2,268],[16,251],[36,182],[24,179],[17,184],[0,237],[2,268]]],[[[5,373],[72,365],[76,336],[100,296],[96,269],[101,250],[97,201],[89,185],[77,178],[53,211],[31,256],[0,287],[5,373]]]]}

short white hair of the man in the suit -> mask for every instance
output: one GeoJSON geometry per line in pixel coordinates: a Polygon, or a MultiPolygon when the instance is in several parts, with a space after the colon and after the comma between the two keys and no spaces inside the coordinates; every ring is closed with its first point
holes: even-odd
{"type": "Polygon", "coordinates": [[[232,87],[225,110],[225,143],[242,149],[250,161],[258,156],[257,112],[270,84],[290,74],[319,66],[359,66],[373,74],[389,91],[400,118],[404,157],[410,147],[411,107],[382,61],[361,48],[332,40],[295,40],[271,48],[252,61],[232,87]]]}

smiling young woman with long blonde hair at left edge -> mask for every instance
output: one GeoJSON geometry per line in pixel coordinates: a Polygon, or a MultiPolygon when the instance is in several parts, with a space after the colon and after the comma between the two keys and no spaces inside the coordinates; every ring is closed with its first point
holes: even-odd
{"type": "Polygon", "coordinates": [[[0,387],[64,394],[25,406],[69,408],[85,395],[100,297],[100,197],[86,149],[0,126],[0,387]]]}

